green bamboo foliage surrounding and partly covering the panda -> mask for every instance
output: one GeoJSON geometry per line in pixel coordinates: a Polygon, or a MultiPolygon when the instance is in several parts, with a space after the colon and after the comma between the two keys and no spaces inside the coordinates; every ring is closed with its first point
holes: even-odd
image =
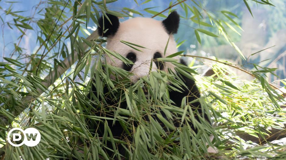
{"type": "MultiPolygon", "coordinates": [[[[88,24],[98,25],[99,15],[106,13],[118,17],[129,17],[130,12],[144,16],[141,11],[131,8],[124,7],[120,11],[108,8],[107,5],[115,1],[47,1],[47,7],[42,7],[45,11],[39,9],[43,3],[40,2],[35,14],[44,13],[44,18],[37,20],[13,11],[14,2],[8,9],[0,7],[5,11],[5,16],[13,17],[13,21],[5,21],[1,17],[3,24],[11,29],[17,28],[22,33],[19,43],[27,30],[34,30],[37,31],[37,42],[40,44],[33,54],[26,56],[19,43],[15,43],[11,57],[5,57],[5,62],[0,63],[0,159],[124,159],[117,145],[122,145],[128,151],[125,159],[285,156],[285,144],[268,142],[265,138],[265,135],[268,136],[265,129],[274,127],[283,131],[286,123],[285,111],[281,109],[284,95],[264,79],[265,73],[272,73],[275,69],[255,64],[257,70],[247,71],[255,79],[245,81],[231,73],[229,67],[233,67],[232,64],[215,60],[216,63],[212,65],[215,74],[202,77],[194,67],[182,66],[172,58],[183,51],[159,58],[160,61],[174,64],[177,73],[197,80],[202,97],[196,101],[201,103],[203,115],[212,119],[211,126],[204,116],[192,112],[194,102],[182,103],[180,107],[172,105],[169,91],[176,88],[168,84],[178,87],[184,85],[172,70],[150,72],[148,77],[132,84],[128,78],[132,73],[104,63],[104,55],[112,55],[126,64],[132,62],[104,48],[106,39],[98,38],[94,33],[85,38],[89,34],[86,30],[88,24]],[[14,55],[18,58],[14,59],[14,55]],[[29,61],[23,63],[23,58],[29,61]],[[110,75],[115,78],[110,79],[110,75]],[[104,86],[108,88],[107,93],[103,92],[104,86]],[[90,91],[91,87],[96,88],[96,94],[90,91]],[[142,88],[147,90],[147,94],[142,88]],[[118,103],[108,106],[106,97],[113,97],[118,103]],[[127,104],[126,108],[120,107],[123,103],[127,104]],[[195,116],[199,116],[201,122],[195,116]],[[124,140],[123,137],[113,136],[107,120],[119,122],[124,127],[127,132],[127,135],[123,135],[126,136],[124,140]],[[178,121],[180,127],[175,127],[174,121],[178,121]],[[96,133],[103,129],[91,129],[89,126],[99,123],[105,126],[103,137],[96,133]],[[197,133],[193,132],[190,124],[197,128],[197,133]],[[39,145],[12,147],[6,143],[9,129],[30,126],[41,132],[39,145]],[[238,132],[263,137],[267,143],[245,141],[238,132]],[[213,141],[209,139],[210,135],[215,137],[213,141]],[[108,148],[107,142],[111,142],[112,148],[108,148]],[[212,155],[208,153],[208,147],[217,147],[219,152],[212,155]],[[109,157],[106,150],[114,154],[109,157]]],[[[253,1],[259,5],[272,5],[268,1],[253,1]]],[[[250,1],[243,2],[251,13],[248,5],[250,1]]],[[[135,3],[138,4],[137,1],[135,3]]],[[[145,8],[144,11],[153,17],[166,17],[166,13],[173,11],[174,7],[182,8],[186,18],[188,12],[192,14],[190,21],[198,24],[194,32],[199,43],[201,34],[211,37],[222,35],[245,59],[225,30],[226,26],[236,33],[238,31],[234,27],[241,29],[231,18],[237,17],[235,14],[221,11],[220,14],[229,20],[222,21],[214,13],[205,10],[201,3],[186,0],[171,2],[162,12],[152,8],[145,8]],[[208,22],[202,14],[207,15],[208,22]],[[218,32],[212,33],[201,26],[216,28],[218,32]]],[[[148,48],[123,40],[121,43],[137,50],[148,48]]]]}

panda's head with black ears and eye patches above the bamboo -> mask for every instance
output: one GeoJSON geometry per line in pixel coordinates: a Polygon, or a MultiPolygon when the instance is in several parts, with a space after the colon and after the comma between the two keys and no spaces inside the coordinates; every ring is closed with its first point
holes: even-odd
{"type": "MultiPolygon", "coordinates": [[[[100,36],[107,37],[107,49],[115,51],[126,57],[127,59],[131,60],[134,65],[124,64],[121,60],[115,57],[106,57],[108,64],[132,72],[133,75],[130,76],[130,79],[133,82],[136,82],[140,77],[148,75],[151,63],[151,71],[167,71],[168,67],[171,70],[174,69],[173,64],[161,62],[156,59],[160,57],[167,57],[177,52],[176,42],[173,34],[176,34],[179,28],[180,16],[176,11],[170,13],[169,16],[163,21],[157,21],[152,18],[137,17],[120,23],[116,16],[109,14],[107,16],[110,21],[105,16],[100,18],[99,27],[97,29],[98,34],[100,36]],[[137,47],[142,52],[137,51],[132,47],[120,42],[120,40],[146,48],[137,47]],[[164,55],[167,42],[168,46],[164,55]]],[[[179,59],[179,57],[174,58],[179,59]]]]}

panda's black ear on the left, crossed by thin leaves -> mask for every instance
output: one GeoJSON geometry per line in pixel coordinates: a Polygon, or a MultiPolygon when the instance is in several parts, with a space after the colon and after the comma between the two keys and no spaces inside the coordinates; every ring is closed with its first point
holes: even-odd
{"type": "Polygon", "coordinates": [[[102,15],[98,20],[99,26],[97,28],[97,33],[99,36],[103,36],[103,37],[114,35],[117,32],[118,27],[119,27],[118,17],[116,17],[114,15],[110,15],[110,14],[106,14],[106,15],[109,18],[109,20],[111,21],[111,23],[110,23],[110,21],[108,21],[108,19],[104,15],[102,15]],[[104,21],[104,24],[103,24],[103,21],[104,21]],[[104,26],[104,28],[103,28],[103,26],[104,26]],[[108,29],[108,30],[105,33],[103,33],[103,29],[104,29],[104,31],[106,29],[108,29]]]}

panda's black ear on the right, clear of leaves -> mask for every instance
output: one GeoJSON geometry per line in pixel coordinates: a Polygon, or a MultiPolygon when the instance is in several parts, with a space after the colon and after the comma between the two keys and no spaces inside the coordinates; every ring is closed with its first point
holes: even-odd
{"type": "Polygon", "coordinates": [[[180,23],[180,15],[176,11],[173,11],[169,16],[162,21],[168,34],[175,34],[178,31],[180,23]]]}

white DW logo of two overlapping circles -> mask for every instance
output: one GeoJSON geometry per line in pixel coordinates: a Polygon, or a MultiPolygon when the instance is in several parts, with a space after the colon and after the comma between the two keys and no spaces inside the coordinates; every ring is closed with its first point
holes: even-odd
{"type": "Polygon", "coordinates": [[[29,147],[33,147],[33,146],[39,144],[39,142],[41,140],[41,134],[35,128],[27,128],[25,130],[23,130],[21,128],[13,128],[8,132],[7,140],[12,146],[15,146],[15,147],[19,147],[23,144],[25,144],[29,147]],[[15,130],[21,131],[24,135],[24,140],[20,144],[12,143],[12,141],[17,142],[17,141],[22,140],[22,135],[20,133],[12,133],[15,130]],[[11,137],[10,137],[11,133],[12,133],[12,141],[11,141],[11,137]]]}

